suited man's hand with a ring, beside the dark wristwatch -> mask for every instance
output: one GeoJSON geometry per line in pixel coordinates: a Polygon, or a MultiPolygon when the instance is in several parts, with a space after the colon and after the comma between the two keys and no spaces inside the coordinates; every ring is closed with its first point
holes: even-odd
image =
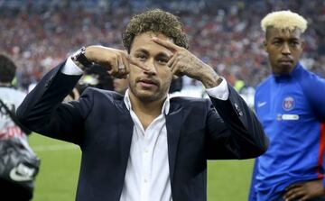
{"type": "Polygon", "coordinates": [[[130,64],[140,69],[147,70],[144,64],[130,59],[124,50],[116,50],[103,46],[88,46],[85,53],[86,58],[102,67],[107,68],[107,73],[114,78],[126,78],[130,72],[130,64]]]}

